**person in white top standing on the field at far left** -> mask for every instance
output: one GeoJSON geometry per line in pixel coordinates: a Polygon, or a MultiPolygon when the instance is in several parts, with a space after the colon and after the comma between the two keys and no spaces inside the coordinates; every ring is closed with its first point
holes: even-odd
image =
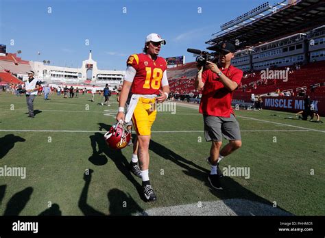
{"type": "Polygon", "coordinates": [[[26,90],[26,102],[28,107],[29,118],[34,118],[34,99],[37,95],[38,89],[40,88],[40,83],[37,79],[34,79],[34,71],[30,70],[27,72],[28,79],[25,83],[26,90]]]}

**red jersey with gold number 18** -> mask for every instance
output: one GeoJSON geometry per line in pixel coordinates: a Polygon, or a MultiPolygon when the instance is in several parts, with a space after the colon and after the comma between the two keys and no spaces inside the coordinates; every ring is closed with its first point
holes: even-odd
{"type": "Polygon", "coordinates": [[[167,69],[167,62],[163,57],[154,61],[144,53],[130,55],[127,66],[136,70],[132,83],[132,94],[159,94],[161,79],[167,69]]]}

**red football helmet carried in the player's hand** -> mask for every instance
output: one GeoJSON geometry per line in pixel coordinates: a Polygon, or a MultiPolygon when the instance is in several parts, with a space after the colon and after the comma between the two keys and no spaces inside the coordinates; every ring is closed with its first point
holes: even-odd
{"type": "Polygon", "coordinates": [[[105,133],[104,139],[110,148],[120,150],[128,146],[131,140],[131,131],[128,131],[123,122],[117,122],[105,133]]]}

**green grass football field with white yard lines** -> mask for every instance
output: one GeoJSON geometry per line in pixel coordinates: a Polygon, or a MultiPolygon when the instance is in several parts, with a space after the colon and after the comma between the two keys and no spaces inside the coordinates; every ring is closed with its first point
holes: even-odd
{"type": "Polygon", "coordinates": [[[285,119],[293,114],[279,111],[237,111],[243,146],[221,168],[248,167],[250,178],[226,176],[224,191],[214,191],[206,180],[210,143],[204,141],[202,115],[182,105],[176,114],[158,112],[149,148],[158,200],[144,202],[141,178],[128,170],[132,148],[110,150],[103,140],[115,123],[115,96],[111,107],[99,105],[99,96],[95,103],[90,98],[38,96],[37,114],[27,118],[25,96],[0,93],[0,167],[26,168],[25,179],[0,177],[1,215],[131,215],[200,202],[227,204],[232,198],[271,207],[276,202],[293,215],[325,215],[324,124],[285,119]],[[86,169],[93,173],[84,178],[86,169]]]}

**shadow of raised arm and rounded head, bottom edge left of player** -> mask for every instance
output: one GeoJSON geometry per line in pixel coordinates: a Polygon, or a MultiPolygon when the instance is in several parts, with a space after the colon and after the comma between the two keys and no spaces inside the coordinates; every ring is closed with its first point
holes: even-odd
{"type": "MultiPolygon", "coordinates": [[[[89,170],[89,174],[84,174],[84,188],[80,195],[78,207],[84,215],[106,215],[101,211],[97,211],[87,204],[88,190],[91,184],[93,170],[89,170]]],[[[130,194],[125,194],[119,189],[111,189],[108,191],[108,202],[110,215],[132,215],[134,213],[143,213],[143,209],[135,202],[130,194]]]]}

